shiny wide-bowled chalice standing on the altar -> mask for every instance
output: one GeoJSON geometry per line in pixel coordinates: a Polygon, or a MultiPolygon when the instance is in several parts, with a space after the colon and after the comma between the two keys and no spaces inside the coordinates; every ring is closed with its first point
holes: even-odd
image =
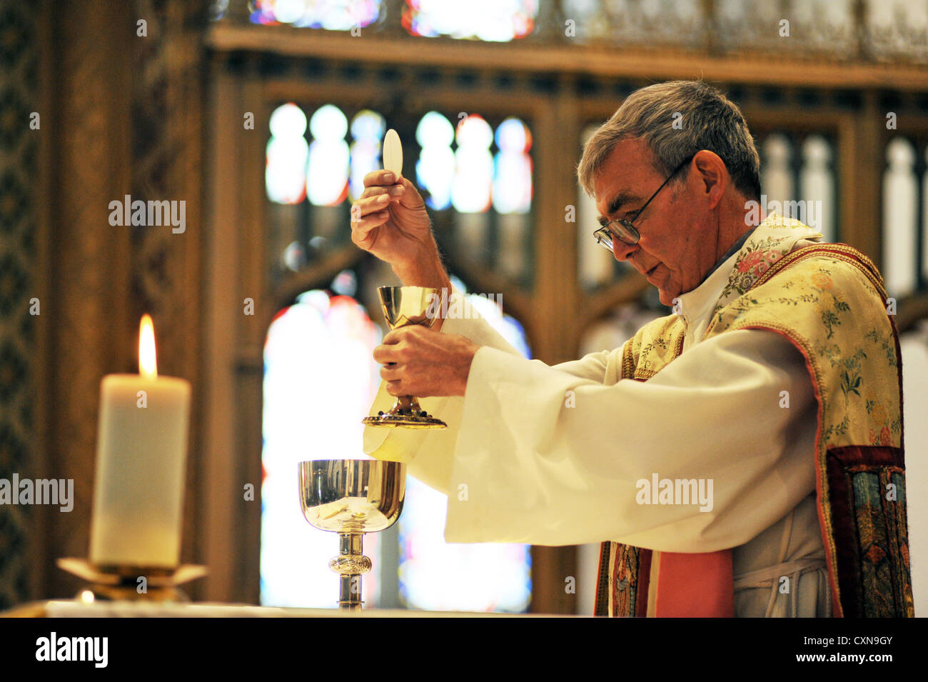
{"type": "Polygon", "coordinates": [[[361,576],[371,568],[365,533],[390,528],[403,511],[406,464],[377,459],[318,459],[300,463],[300,507],[306,521],[339,534],[339,609],[361,609],[361,576]]]}

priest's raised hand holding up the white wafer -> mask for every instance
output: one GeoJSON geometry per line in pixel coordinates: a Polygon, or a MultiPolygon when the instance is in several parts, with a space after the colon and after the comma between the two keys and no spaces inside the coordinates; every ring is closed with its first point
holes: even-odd
{"type": "Polygon", "coordinates": [[[432,237],[432,222],[416,186],[402,175],[372,171],[351,207],[351,239],[411,287],[449,287],[432,237]]]}

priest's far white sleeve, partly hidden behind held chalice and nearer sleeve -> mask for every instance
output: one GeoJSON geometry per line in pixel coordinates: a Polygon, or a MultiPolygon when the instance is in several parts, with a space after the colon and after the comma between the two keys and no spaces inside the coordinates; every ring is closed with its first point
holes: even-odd
{"type": "MultiPolygon", "coordinates": [[[[506,356],[522,358],[522,355],[470,306],[466,297],[458,290],[453,290],[449,297],[448,309],[455,310],[456,302],[460,306],[457,309],[461,315],[445,319],[442,325],[443,334],[459,334],[480,346],[496,349],[506,356]],[[459,300],[456,301],[456,298],[459,300]]],[[[602,383],[609,373],[618,371],[614,356],[621,357],[621,350],[588,354],[580,360],[555,367],[575,376],[602,383]]],[[[393,396],[386,391],[386,384],[381,381],[370,414],[386,412],[393,406],[393,400],[393,396]]],[[[417,431],[367,426],[364,430],[364,451],[377,459],[407,462],[407,470],[411,475],[447,495],[448,479],[464,410],[464,397],[420,398],[419,404],[432,416],[445,421],[448,428],[417,431]]]]}

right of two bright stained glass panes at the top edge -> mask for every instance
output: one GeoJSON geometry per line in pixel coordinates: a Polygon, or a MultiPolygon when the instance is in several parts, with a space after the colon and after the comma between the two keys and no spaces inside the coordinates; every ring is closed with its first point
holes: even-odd
{"type": "Polygon", "coordinates": [[[535,28],[537,0],[406,0],[403,25],[413,35],[508,42],[535,28]]]}

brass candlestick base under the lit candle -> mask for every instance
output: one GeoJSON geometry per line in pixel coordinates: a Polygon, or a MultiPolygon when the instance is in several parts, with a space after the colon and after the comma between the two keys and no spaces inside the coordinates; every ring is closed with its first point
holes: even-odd
{"type": "Polygon", "coordinates": [[[129,565],[97,566],[73,557],[58,560],[58,568],[87,581],[76,599],[80,601],[189,601],[177,585],[207,573],[205,566],[184,564],[175,569],[129,565]]]}

